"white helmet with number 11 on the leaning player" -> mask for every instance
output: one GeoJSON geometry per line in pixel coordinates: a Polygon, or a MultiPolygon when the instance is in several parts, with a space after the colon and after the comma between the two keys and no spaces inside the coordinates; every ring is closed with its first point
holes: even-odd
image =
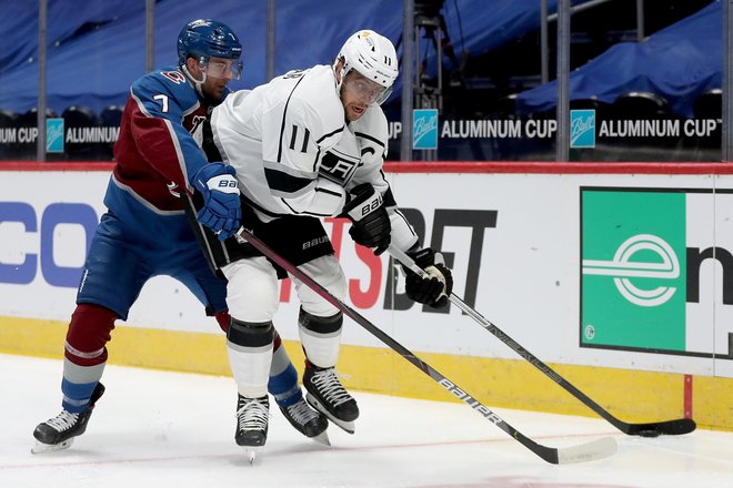
{"type": "Polygon", "coordinates": [[[382,103],[389,98],[392,83],[400,73],[396,51],[392,41],[372,30],[361,30],[347,39],[339,51],[334,67],[341,59],[343,59],[343,67],[341,81],[337,87],[339,90],[347,74],[351,70],[357,70],[368,80],[384,87],[384,93],[375,103],[382,103]]]}

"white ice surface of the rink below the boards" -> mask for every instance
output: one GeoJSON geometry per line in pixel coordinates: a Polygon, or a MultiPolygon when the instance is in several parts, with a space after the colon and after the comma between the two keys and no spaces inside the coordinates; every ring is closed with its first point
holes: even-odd
{"type": "Polygon", "coordinates": [[[330,426],[332,447],[274,408],[250,465],[233,440],[232,378],[117,366],[104,372],[87,433],[68,450],[32,455],[34,426],[60,411],[61,367],[0,355],[0,488],[733,487],[732,433],[636,438],[598,418],[492,408],[546,446],[619,443],[610,458],[555,466],[466,405],[360,392],[357,433],[330,426]]]}

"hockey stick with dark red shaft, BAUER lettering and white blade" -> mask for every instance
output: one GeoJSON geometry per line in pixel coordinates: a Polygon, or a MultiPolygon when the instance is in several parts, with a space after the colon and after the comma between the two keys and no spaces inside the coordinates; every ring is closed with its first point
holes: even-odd
{"type": "Polygon", "coordinates": [[[452,395],[458,397],[461,401],[473,408],[475,411],[481,414],[485,419],[493,423],[496,427],[505,431],[508,435],[519,440],[524,447],[530,449],[535,455],[540,456],[548,462],[554,465],[564,465],[570,462],[583,462],[591,461],[595,459],[601,459],[608,456],[613,455],[616,451],[616,441],[611,437],[603,437],[601,439],[592,440],[579,446],[570,446],[562,448],[554,448],[543,446],[535,443],[529,437],[524,436],[522,433],[516,430],[514,427],[504,421],[499,415],[493,413],[489,407],[482,405],[478,399],[473,398],[471,395],[465,393],[462,388],[455,385],[453,382],[448,379],[442,374],[438,373],[432,366],[423,362],[406,347],[402,346],[400,343],[390,337],[381,328],[376,327],[374,324],[369,322],[365,317],[359,314],[357,311],[351,308],[349,305],[333,296],[328,289],[325,289],[321,284],[315,279],[310,277],[307,273],[300,271],[298,267],[292,265],[285,258],[280,256],[277,252],[270,248],[264,242],[255,237],[250,231],[244,227],[240,227],[237,232],[235,237],[238,241],[247,241],[257,247],[262,254],[269,257],[271,261],[277,263],[293,277],[299,279],[305,286],[311,288],[313,292],[318,293],[322,298],[329,302],[331,305],[343,312],[344,315],[351,317],[357,324],[361,325],[392,350],[400,354],[403,358],[409,360],[414,367],[423,372],[425,375],[430,376],[435,383],[445,388],[452,395]]]}

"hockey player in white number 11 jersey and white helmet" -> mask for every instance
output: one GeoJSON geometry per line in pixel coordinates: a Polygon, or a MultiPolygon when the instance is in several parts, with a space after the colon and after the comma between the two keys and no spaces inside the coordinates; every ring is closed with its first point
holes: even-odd
{"type": "MultiPolygon", "coordinates": [[[[243,225],[334,296],[343,299],[345,278],[320,217],[344,216],[358,244],[379,255],[392,243],[412,256],[431,277],[409,273],[408,296],[442,307],[451,273],[440,253],[421,247],[382,172],[388,125],[380,103],[396,77],[392,42],[362,30],[347,40],[333,65],[292,71],[230,95],[200,138],[211,161],[237,170],[243,225]]],[[[229,279],[228,350],[240,394],[235,438],[240,445],[261,446],[268,430],[278,278],[287,274],[234,238],[221,243],[208,233],[204,247],[229,279]]],[[[295,287],[307,399],[353,433],[359,408],[334,370],[342,314],[298,281],[295,287]]]]}

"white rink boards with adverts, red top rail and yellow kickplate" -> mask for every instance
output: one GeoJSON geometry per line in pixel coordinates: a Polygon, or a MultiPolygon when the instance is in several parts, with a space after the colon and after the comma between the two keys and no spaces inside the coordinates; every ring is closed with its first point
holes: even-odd
{"type": "MultiPolygon", "coordinates": [[[[59,357],[109,166],[9,167],[0,172],[0,352],[59,357]]],[[[580,167],[401,164],[386,176],[423,241],[443,250],[454,292],[614,415],[691,414],[733,430],[729,165],[580,167]]],[[[460,311],[409,302],[390,261],[357,247],[347,222],[325,226],[349,304],[453,383],[486,405],[592,415],[460,311]]],[[[284,282],[275,327],[300,366],[297,313],[284,282]]],[[[229,375],[218,325],[167,277],[145,285],[112,337],[112,363],[229,375]]],[[[349,321],[343,344],[349,386],[449,399],[349,321]]]]}

